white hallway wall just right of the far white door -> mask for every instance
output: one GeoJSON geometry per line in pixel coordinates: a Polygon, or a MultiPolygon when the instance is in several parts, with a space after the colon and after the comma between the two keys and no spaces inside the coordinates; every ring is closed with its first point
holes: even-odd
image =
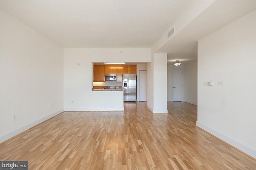
{"type": "Polygon", "coordinates": [[[184,102],[197,105],[197,61],[184,65],[184,102]]]}

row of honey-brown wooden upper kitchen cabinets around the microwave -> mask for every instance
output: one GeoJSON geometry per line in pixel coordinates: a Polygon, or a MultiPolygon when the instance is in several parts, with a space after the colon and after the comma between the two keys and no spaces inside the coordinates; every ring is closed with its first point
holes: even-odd
{"type": "Polygon", "coordinates": [[[122,82],[122,74],[136,74],[136,65],[94,65],[94,82],[104,82],[105,74],[116,74],[116,81],[122,82]]]}

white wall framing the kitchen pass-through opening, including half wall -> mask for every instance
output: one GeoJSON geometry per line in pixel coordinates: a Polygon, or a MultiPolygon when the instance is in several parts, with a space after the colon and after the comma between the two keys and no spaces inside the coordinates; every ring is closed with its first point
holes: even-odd
{"type": "Polygon", "coordinates": [[[150,49],[64,49],[65,110],[124,110],[123,91],[92,91],[92,62],[150,62],[150,52],[150,49]]]}

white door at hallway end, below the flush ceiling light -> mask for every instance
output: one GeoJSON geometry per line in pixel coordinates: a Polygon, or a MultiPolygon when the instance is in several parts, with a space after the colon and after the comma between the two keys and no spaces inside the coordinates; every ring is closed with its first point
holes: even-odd
{"type": "Polygon", "coordinates": [[[182,70],[172,70],[172,101],[183,101],[182,70]]]}

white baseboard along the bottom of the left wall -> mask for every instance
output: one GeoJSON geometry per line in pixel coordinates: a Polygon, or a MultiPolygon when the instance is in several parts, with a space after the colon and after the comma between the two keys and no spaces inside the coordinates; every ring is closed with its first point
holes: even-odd
{"type": "Polygon", "coordinates": [[[20,134],[20,133],[28,130],[29,128],[31,128],[31,127],[33,127],[35,125],[38,125],[39,123],[42,123],[43,121],[46,121],[47,119],[50,119],[50,118],[52,118],[52,117],[62,113],[63,111],[64,111],[64,109],[60,109],[59,111],[56,111],[56,112],[54,112],[54,113],[52,113],[50,115],[47,115],[46,117],[42,117],[41,119],[38,119],[38,120],[36,120],[36,121],[34,121],[32,123],[29,123],[28,125],[20,127],[20,128],[18,128],[16,130],[10,132],[10,133],[7,133],[7,134],[1,136],[0,137],[0,143],[2,143],[4,141],[6,141],[6,140],[8,140],[8,139],[10,139],[10,138],[20,134]]]}

